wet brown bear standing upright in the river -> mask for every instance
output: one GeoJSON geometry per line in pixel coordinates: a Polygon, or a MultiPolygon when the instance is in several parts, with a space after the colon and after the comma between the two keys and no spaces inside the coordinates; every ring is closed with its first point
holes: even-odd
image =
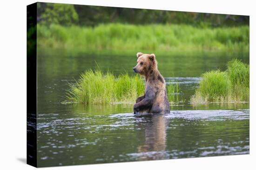
{"type": "Polygon", "coordinates": [[[134,113],[170,113],[165,81],[157,69],[155,54],[137,53],[135,73],[145,77],[145,94],[138,97],[134,105],[134,113]]]}

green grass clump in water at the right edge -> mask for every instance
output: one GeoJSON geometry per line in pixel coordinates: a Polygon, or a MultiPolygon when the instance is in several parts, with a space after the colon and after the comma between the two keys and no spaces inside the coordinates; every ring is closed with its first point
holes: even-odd
{"type": "Polygon", "coordinates": [[[249,101],[249,65],[234,59],[226,71],[212,70],[202,74],[199,88],[191,101],[241,102],[249,101]]]}

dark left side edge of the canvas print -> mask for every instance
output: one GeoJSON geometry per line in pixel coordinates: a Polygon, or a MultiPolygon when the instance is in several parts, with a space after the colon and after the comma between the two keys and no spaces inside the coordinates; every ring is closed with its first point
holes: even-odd
{"type": "Polygon", "coordinates": [[[27,6],[27,164],[37,167],[37,3],[27,6]]]}

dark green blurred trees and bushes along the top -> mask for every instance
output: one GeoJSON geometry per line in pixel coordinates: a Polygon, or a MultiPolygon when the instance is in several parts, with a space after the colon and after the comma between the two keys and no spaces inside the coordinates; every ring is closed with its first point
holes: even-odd
{"type": "Polygon", "coordinates": [[[199,27],[249,25],[249,16],[107,6],[37,3],[41,24],[95,26],[99,23],[189,24],[199,27]]]}

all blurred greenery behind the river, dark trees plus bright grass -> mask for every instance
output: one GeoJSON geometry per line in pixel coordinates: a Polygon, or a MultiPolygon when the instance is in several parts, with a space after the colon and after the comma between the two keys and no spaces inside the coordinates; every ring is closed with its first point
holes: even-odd
{"type": "Polygon", "coordinates": [[[44,49],[249,55],[249,16],[38,2],[36,20],[44,49]]]}

